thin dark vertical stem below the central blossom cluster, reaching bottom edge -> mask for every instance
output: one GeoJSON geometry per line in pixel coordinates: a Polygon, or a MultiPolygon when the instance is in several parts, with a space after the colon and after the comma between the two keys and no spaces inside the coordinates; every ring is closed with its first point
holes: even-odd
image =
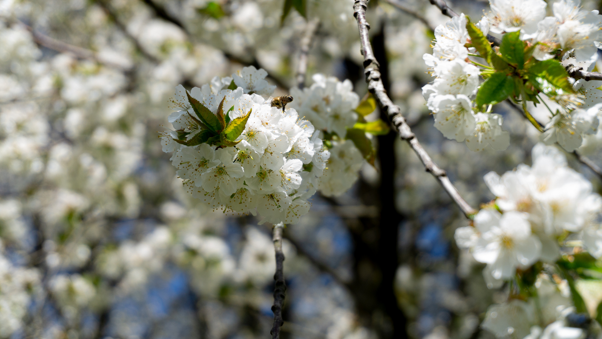
{"type": "Polygon", "coordinates": [[[284,297],[287,291],[287,284],[284,281],[284,253],[282,253],[282,229],[284,228],[283,223],[274,225],[272,230],[272,240],[274,241],[274,250],[276,252],[276,273],[274,274],[275,287],[274,287],[274,305],[272,306],[272,312],[274,313],[274,323],[272,325],[272,339],[280,338],[280,328],[284,324],[282,320],[282,305],[284,304],[284,297]]]}

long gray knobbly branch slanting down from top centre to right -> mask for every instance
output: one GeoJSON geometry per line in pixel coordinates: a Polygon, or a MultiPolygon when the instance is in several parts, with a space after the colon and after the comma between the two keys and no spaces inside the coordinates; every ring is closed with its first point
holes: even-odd
{"type": "Polygon", "coordinates": [[[386,95],[385,87],[382,84],[382,79],[380,79],[379,63],[376,61],[376,57],[374,57],[372,45],[370,44],[370,37],[368,36],[370,25],[365,16],[367,5],[368,0],[356,0],[355,4],[353,4],[353,15],[356,20],[358,20],[359,42],[362,46],[362,54],[364,54],[364,74],[366,76],[366,82],[368,83],[368,91],[374,95],[380,109],[389,117],[389,120],[391,120],[391,123],[397,130],[399,137],[402,138],[402,140],[405,140],[414,152],[416,152],[424,164],[426,171],[435,176],[435,179],[439,181],[441,187],[449,194],[464,215],[467,218],[470,218],[476,213],[476,210],[468,205],[464,198],[462,198],[456,187],[454,187],[448,178],[445,170],[439,168],[439,166],[437,166],[430,158],[429,154],[424,151],[424,148],[420,145],[420,142],[418,142],[416,135],[414,135],[406,122],[405,117],[403,117],[399,106],[393,104],[393,101],[386,95]]]}

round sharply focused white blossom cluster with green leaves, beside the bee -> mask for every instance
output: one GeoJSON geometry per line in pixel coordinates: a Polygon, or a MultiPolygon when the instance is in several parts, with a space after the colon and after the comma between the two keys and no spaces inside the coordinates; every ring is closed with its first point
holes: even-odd
{"type": "Polygon", "coordinates": [[[178,176],[209,207],[296,223],[330,153],[311,122],[261,96],[275,89],[265,76],[251,66],[190,93],[178,86],[163,151],[174,152],[178,176]]]}

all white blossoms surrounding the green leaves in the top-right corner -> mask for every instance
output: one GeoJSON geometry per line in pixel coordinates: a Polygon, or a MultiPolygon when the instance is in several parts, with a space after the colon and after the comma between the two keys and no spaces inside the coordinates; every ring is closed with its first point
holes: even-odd
{"type": "MultiPolygon", "coordinates": [[[[501,59],[504,61],[510,64],[514,62],[517,69],[535,64],[531,61],[525,64],[531,57],[535,61],[555,58],[564,64],[580,63],[580,66],[586,69],[589,67],[589,70],[594,67],[599,41],[602,39],[602,16],[597,10],[583,10],[578,0],[560,0],[552,5],[554,16],[546,17],[547,4],[543,0],[490,2],[491,11],[476,24],[483,36],[488,33],[495,35],[517,32],[520,33],[520,43],[526,43],[525,54],[521,54],[517,60],[509,61],[507,55],[502,52],[501,59]]],[[[423,95],[427,99],[428,108],[435,115],[436,128],[445,137],[458,142],[465,141],[473,151],[481,150],[487,145],[494,149],[505,149],[509,145],[509,135],[501,130],[502,118],[498,114],[489,113],[491,105],[483,112],[481,110],[485,110],[485,107],[479,107],[471,100],[471,96],[481,89],[479,75],[488,78],[494,67],[498,71],[500,68],[494,63],[494,67],[489,67],[481,64],[482,61],[476,61],[477,56],[490,60],[485,55],[475,54],[477,50],[471,46],[474,42],[471,41],[466,25],[467,18],[462,14],[436,28],[433,54],[424,55],[424,61],[436,78],[432,84],[423,87],[423,95]]],[[[545,70],[549,67],[540,68],[545,70]]],[[[564,76],[566,79],[566,73],[560,74],[564,73],[563,70],[556,69],[554,72],[554,76],[564,76]]],[[[577,81],[573,86],[576,93],[572,93],[570,84],[574,81],[569,83],[562,80],[562,84],[560,81],[552,81],[556,86],[554,88],[549,86],[551,82],[545,82],[551,78],[543,76],[545,80],[536,79],[536,76],[541,74],[540,72],[531,75],[532,81],[541,82],[535,86],[537,90],[532,96],[515,88],[514,97],[523,102],[533,101],[535,104],[541,104],[543,101],[541,105],[547,108],[547,120],[539,122],[545,125],[541,141],[547,145],[559,143],[567,151],[573,151],[582,145],[586,135],[597,133],[601,106],[595,106],[597,102],[592,103],[589,98],[594,96],[599,102],[599,86],[591,87],[592,84],[577,81]],[[566,85],[563,85],[565,82],[566,85]],[[539,95],[540,92],[542,95],[539,95]],[[556,105],[549,105],[548,101],[556,105]]],[[[509,84],[509,87],[514,86],[509,84]]],[[[498,87],[497,92],[503,91],[504,86],[498,87]]],[[[504,93],[506,97],[492,100],[493,103],[507,98],[508,95],[512,96],[512,92],[513,90],[509,90],[507,94],[504,93]]]]}

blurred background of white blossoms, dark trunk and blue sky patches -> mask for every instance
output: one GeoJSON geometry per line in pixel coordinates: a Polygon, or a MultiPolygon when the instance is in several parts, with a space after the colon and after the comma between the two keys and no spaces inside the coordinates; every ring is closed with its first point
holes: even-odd
{"type": "MultiPolygon", "coordinates": [[[[447,20],[426,0],[404,1],[430,27],[447,20]]],[[[323,73],[349,79],[362,98],[353,0],[305,4],[320,19],[306,86],[323,73]]],[[[473,17],[488,10],[482,1],[448,5],[473,17]]],[[[0,338],[267,337],[270,225],[191,197],[157,131],[170,126],[178,84],[200,87],[252,65],[267,70],[274,96],[290,93],[307,20],[293,8],[281,22],[283,7],[0,1],[0,338]]],[[[502,104],[506,151],[445,139],[421,95],[431,28],[385,1],[371,1],[367,15],[385,87],[418,140],[471,205],[491,201],[483,175],[530,164],[538,132],[502,104]]],[[[488,289],[483,264],[456,247],[464,215],[394,132],[376,143],[374,166],[364,161],[349,191],[316,194],[284,230],[282,338],[494,338],[479,324],[507,291],[488,289]]],[[[599,302],[602,285],[592,284],[599,302]]]]}

